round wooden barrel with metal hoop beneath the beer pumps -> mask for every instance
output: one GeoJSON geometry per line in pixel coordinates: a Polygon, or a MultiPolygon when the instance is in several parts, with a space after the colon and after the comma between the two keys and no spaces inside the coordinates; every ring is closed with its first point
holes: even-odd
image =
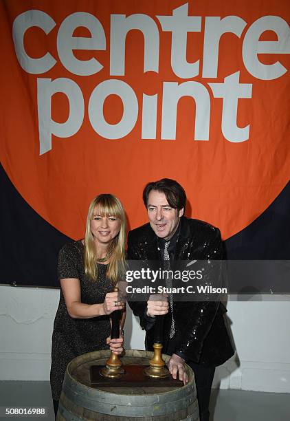
{"type": "MultiPolygon", "coordinates": [[[[188,384],[182,387],[91,387],[91,365],[104,365],[109,355],[109,350],[91,352],[67,365],[57,421],[199,421],[194,374],[188,365],[188,384]]],[[[148,365],[152,356],[153,352],[129,349],[121,359],[124,365],[148,365]]],[[[166,362],[170,358],[163,357],[166,362]]]]}

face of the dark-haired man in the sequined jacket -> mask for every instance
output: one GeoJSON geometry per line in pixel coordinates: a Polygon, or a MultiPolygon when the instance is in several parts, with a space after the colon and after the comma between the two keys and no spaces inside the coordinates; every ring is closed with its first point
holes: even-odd
{"type": "Polygon", "coordinates": [[[151,190],[148,195],[147,213],[150,226],[157,237],[168,240],[177,230],[184,208],[172,208],[161,191],[151,190]]]}

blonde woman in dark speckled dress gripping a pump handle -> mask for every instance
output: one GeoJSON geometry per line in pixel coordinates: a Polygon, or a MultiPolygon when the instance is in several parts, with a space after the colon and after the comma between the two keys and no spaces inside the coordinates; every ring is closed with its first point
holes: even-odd
{"type": "Polygon", "coordinates": [[[115,354],[123,350],[123,337],[109,338],[110,314],[123,310],[120,332],[124,326],[124,303],[115,283],[125,272],[124,248],[126,217],[117,197],[98,195],[89,206],[85,239],[66,244],[58,256],[60,302],[52,334],[50,384],[54,411],[65,369],[76,356],[110,347],[115,354]]]}

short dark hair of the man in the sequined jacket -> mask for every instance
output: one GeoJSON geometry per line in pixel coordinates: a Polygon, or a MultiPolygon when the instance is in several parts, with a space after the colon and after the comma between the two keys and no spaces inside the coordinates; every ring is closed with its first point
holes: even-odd
{"type": "Polygon", "coordinates": [[[168,204],[177,210],[186,207],[186,192],[184,188],[175,180],[170,178],[162,178],[156,182],[146,184],[143,191],[143,202],[147,208],[148,196],[151,190],[157,190],[166,195],[168,204]]]}

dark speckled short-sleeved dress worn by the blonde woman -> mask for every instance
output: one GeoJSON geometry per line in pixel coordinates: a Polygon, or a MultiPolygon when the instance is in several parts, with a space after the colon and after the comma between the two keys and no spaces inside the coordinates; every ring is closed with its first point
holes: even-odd
{"type": "MultiPolygon", "coordinates": [[[[58,256],[58,279],[78,278],[82,303],[103,303],[105,295],[113,291],[113,283],[106,277],[107,265],[98,263],[98,280],[91,281],[85,274],[83,252],[84,246],[81,241],[63,246],[58,256]]],[[[106,339],[110,334],[109,316],[72,319],[60,289],[60,301],[52,334],[50,385],[54,400],[60,398],[67,364],[76,356],[87,352],[109,349],[106,339]]]]}

